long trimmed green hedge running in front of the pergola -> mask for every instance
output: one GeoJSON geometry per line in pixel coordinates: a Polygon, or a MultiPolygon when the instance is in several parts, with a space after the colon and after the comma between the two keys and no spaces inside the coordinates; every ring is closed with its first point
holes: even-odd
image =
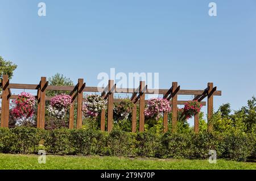
{"type": "Polygon", "coordinates": [[[255,159],[255,146],[255,134],[154,134],[117,129],[108,133],[92,129],[44,131],[24,127],[0,128],[1,153],[36,153],[40,148],[50,154],[206,159],[209,150],[216,150],[217,158],[246,161],[247,158],[255,159]]]}

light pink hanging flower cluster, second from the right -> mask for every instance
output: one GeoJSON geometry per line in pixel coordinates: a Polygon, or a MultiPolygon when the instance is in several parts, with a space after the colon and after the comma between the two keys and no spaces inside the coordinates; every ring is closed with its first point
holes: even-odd
{"type": "Polygon", "coordinates": [[[171,112],[170,103],[167,99],[153,98],[148,100],[147,108],[144,111],[147,118],[159,119],[164,112],[171,112]]]}

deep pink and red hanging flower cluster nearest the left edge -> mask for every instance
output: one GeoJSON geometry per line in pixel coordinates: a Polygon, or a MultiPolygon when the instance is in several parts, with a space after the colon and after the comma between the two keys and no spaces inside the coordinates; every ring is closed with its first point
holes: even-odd
{"type": "Polygon", "coordinates": [[[12,101],[14,108],[11,114],[15,119],[28,119],[34,115],[35,97],[27,92],[21,92],[18,98],[12,101]]]}

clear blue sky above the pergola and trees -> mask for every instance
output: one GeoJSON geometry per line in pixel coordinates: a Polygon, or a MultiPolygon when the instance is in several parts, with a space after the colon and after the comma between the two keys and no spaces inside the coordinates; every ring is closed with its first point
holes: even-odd
{"type": "Polygon", "coordinates": [[[159,73],[159,87],[205,89],[214,108],[255,95],[256,1],[0,0],[0,55],[18,65],[11,82],[62,73],[97,86],[100,72],[159,73]],[[38,3],[46,16],[38,16],[38,3]],[[209,16],[208,4],[217,4],[209,16]]]}

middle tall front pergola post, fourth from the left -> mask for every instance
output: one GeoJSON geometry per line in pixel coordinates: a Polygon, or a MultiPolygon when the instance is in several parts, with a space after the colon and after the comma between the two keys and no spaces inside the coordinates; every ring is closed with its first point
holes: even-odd
{"type": "Polygon", "coordinates": [[[109,94],[108,94],[108,132],[113,129],[113,102],[114,102],[114,81],[109,80],[109,94]]]}

